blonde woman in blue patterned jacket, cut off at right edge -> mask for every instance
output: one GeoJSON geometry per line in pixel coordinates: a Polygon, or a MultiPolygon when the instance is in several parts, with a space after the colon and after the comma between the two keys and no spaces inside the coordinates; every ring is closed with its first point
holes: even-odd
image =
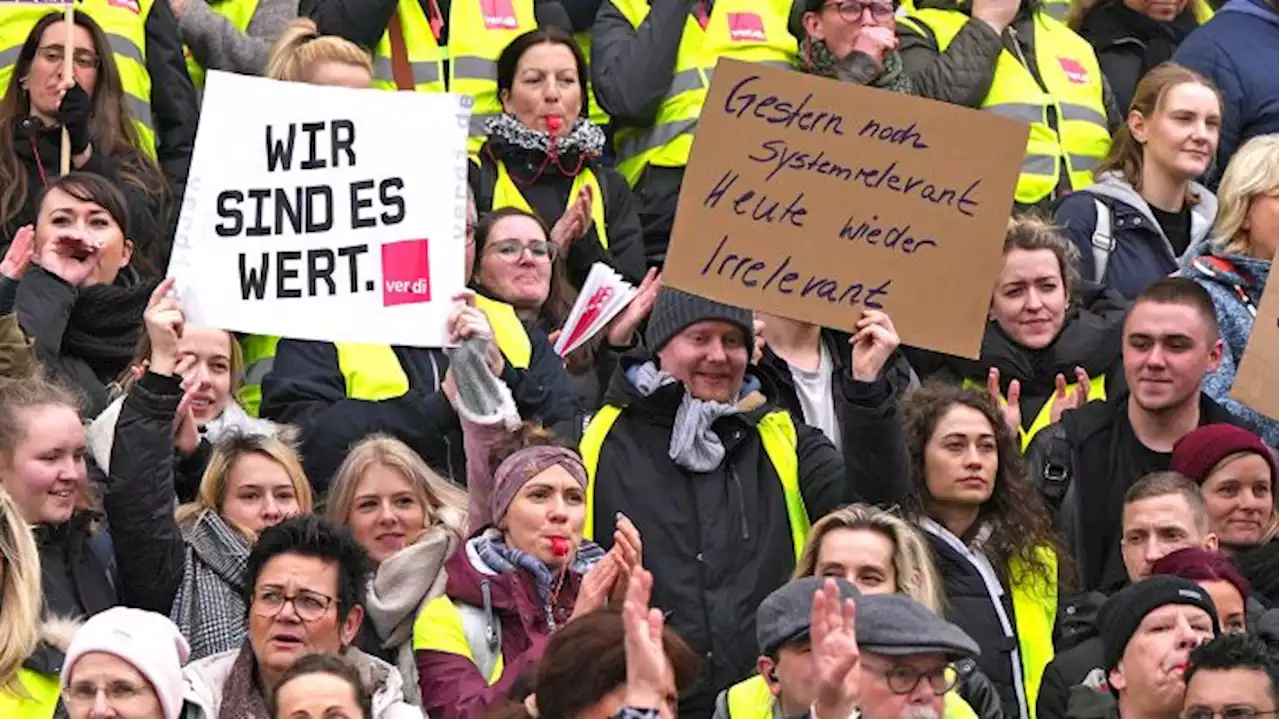
{"type": "Polygon", "coordinates": [[[1180,270],[1213,298],[1222,361],[1203,389],[1268,446],[1280,446],[1280,421],[1231,399],[1231,385],[1253,331],[1271,258],[1280,249],[1280,134],[1254,137],[1231,157],[1217,188],[1213,239],[1180,270]]]}

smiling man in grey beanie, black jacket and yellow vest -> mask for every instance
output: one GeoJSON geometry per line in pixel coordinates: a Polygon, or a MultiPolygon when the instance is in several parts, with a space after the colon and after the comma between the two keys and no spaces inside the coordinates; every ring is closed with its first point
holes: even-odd
{"type": "Polygon", "coordinates": [[[860,408],[841,449],[780,408],[750,365],[748,310],[663,288],[644,339],[604,407],[567,427],[590,477],[584,536],[608,549],[614,514],[636,525],[654,604],[704,658],[681,716],[705,719],[754,672],[754,609],[794,572],[809,523],[850,502],[901,502],[906,444],[893,402],[860,408]]]}

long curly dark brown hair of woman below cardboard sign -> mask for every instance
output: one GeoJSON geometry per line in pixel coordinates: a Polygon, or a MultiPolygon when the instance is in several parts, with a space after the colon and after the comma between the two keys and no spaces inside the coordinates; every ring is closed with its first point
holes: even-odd
{"type": "Polygon", "coordinates": [[[1027,467],[1018,439],[1014,436],[996,403],[983,391],[941,383],[925,383],[902,403],[906,422],[906,444],[911,462],[911,495],[908,510],[915,517],[928,517],[933,498],[928,489],[924,457],[938,422],[952,407],[969,407],[982,412],[996,436],[996,486],[991,499],[979,509],[978,519],[991,525],[991,539],[983,550],[991,563],[1007,568],[1015,557],[1033,573],[1052,586],[1059,578],[1075,574],[1061,540],[1053,531],[1048,510],[1027,477],[1027,467]],[[1057,573],[1041,558],[1038,549],[1057,554],[1057,573]]]}

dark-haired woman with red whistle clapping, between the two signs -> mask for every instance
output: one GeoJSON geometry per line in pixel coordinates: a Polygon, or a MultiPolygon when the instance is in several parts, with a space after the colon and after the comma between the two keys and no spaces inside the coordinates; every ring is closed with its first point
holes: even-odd
{"type": "Polygon", "coordinates": [[[512,40],[497,65],[503,111],[488,122],[471,166],[476,207],[536,214],[575,288],[595,262],[640,281],[639,203],[622,175],[598,161],[605,134],[588,119],[590,70],[573,37],[543,26],[512,40]]]}

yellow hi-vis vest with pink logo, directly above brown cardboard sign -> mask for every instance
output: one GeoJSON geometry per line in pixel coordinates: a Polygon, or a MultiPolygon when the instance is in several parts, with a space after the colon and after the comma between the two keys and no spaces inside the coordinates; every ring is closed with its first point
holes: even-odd
{"type": "MultiPolygon", "coordinates": [[[[611,0],[636,29],[649,17],[648,0],[611,0]]],[[[716,0],[707,29],[690,13],[676,68],[652,127],[620,127],[618,171],[635,187],[649,165],[684,168],[694,146],[716,63],[733,58],[790,69],[796,38],[787,29],[791,0],[716,0]]]]}

